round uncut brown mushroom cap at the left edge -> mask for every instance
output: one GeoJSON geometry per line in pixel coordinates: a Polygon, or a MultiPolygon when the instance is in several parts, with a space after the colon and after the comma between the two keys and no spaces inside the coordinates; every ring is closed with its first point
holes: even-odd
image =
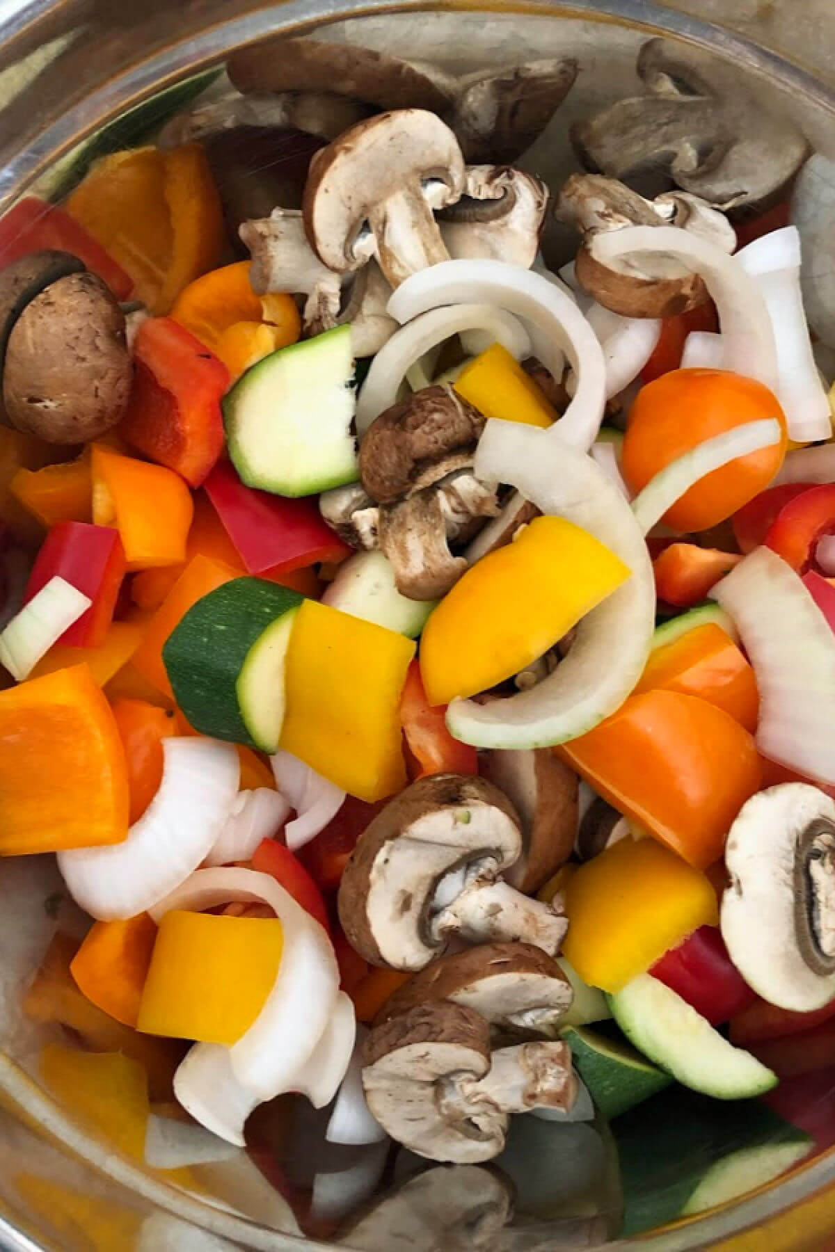
{"type": "Polygon", "coordinates": [[[116,426],[133,366],[125,319],[95,274],[51,283],[19,317],[3,377],[9,421],[48,443],[85,443],[116,426]]]}

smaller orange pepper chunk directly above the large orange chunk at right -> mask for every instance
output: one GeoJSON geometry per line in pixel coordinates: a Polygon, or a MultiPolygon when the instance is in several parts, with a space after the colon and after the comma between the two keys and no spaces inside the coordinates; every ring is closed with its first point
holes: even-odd
{"type": "Polygon", "coordinates": [[[751,734],[756,730],[760,696],[754,669],[730,635],[714,622],[650,654],[632,695],[655,690],[699,696],[724,709],[751,734]]]}

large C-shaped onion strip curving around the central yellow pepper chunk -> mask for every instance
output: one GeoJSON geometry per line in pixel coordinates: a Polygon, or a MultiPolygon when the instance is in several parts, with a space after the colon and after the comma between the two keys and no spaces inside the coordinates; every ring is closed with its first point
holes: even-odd
{"type": "Polygon", "coordinates": [[[489,421],[476,453],[484,482],[511,482],[543,513],[567,517],[615,552],[632,576],[587,613],[566,659],[530,691],[479,705],[454,700],[447,725],[477,747],[545,747],[613,712],[641,676],[655,629],[655,580],[626,500],[585,453],[518,422],[489,421]]]}

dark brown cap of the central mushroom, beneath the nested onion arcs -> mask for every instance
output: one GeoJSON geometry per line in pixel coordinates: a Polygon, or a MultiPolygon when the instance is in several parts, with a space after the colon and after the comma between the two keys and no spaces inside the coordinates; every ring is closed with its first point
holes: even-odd
{"type": "Polygon", "coordinates": [[[423,387],[384,409],[359,447],[359,477],[378,503],[472,464],[484,418],[449,386],[423,387]]]}

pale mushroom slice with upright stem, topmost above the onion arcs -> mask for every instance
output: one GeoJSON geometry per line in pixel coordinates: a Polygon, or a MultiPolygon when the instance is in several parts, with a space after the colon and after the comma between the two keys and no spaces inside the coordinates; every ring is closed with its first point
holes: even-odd
{"type": "Polygon", "coordinates": [[[304,188],[304,224],[330,269],[347,273],[376,255],[397,287],[448,260],[434,209],[454,204],[464,164],[452,130],[426,109],[382,113],[317,153],[304,188]]]}

